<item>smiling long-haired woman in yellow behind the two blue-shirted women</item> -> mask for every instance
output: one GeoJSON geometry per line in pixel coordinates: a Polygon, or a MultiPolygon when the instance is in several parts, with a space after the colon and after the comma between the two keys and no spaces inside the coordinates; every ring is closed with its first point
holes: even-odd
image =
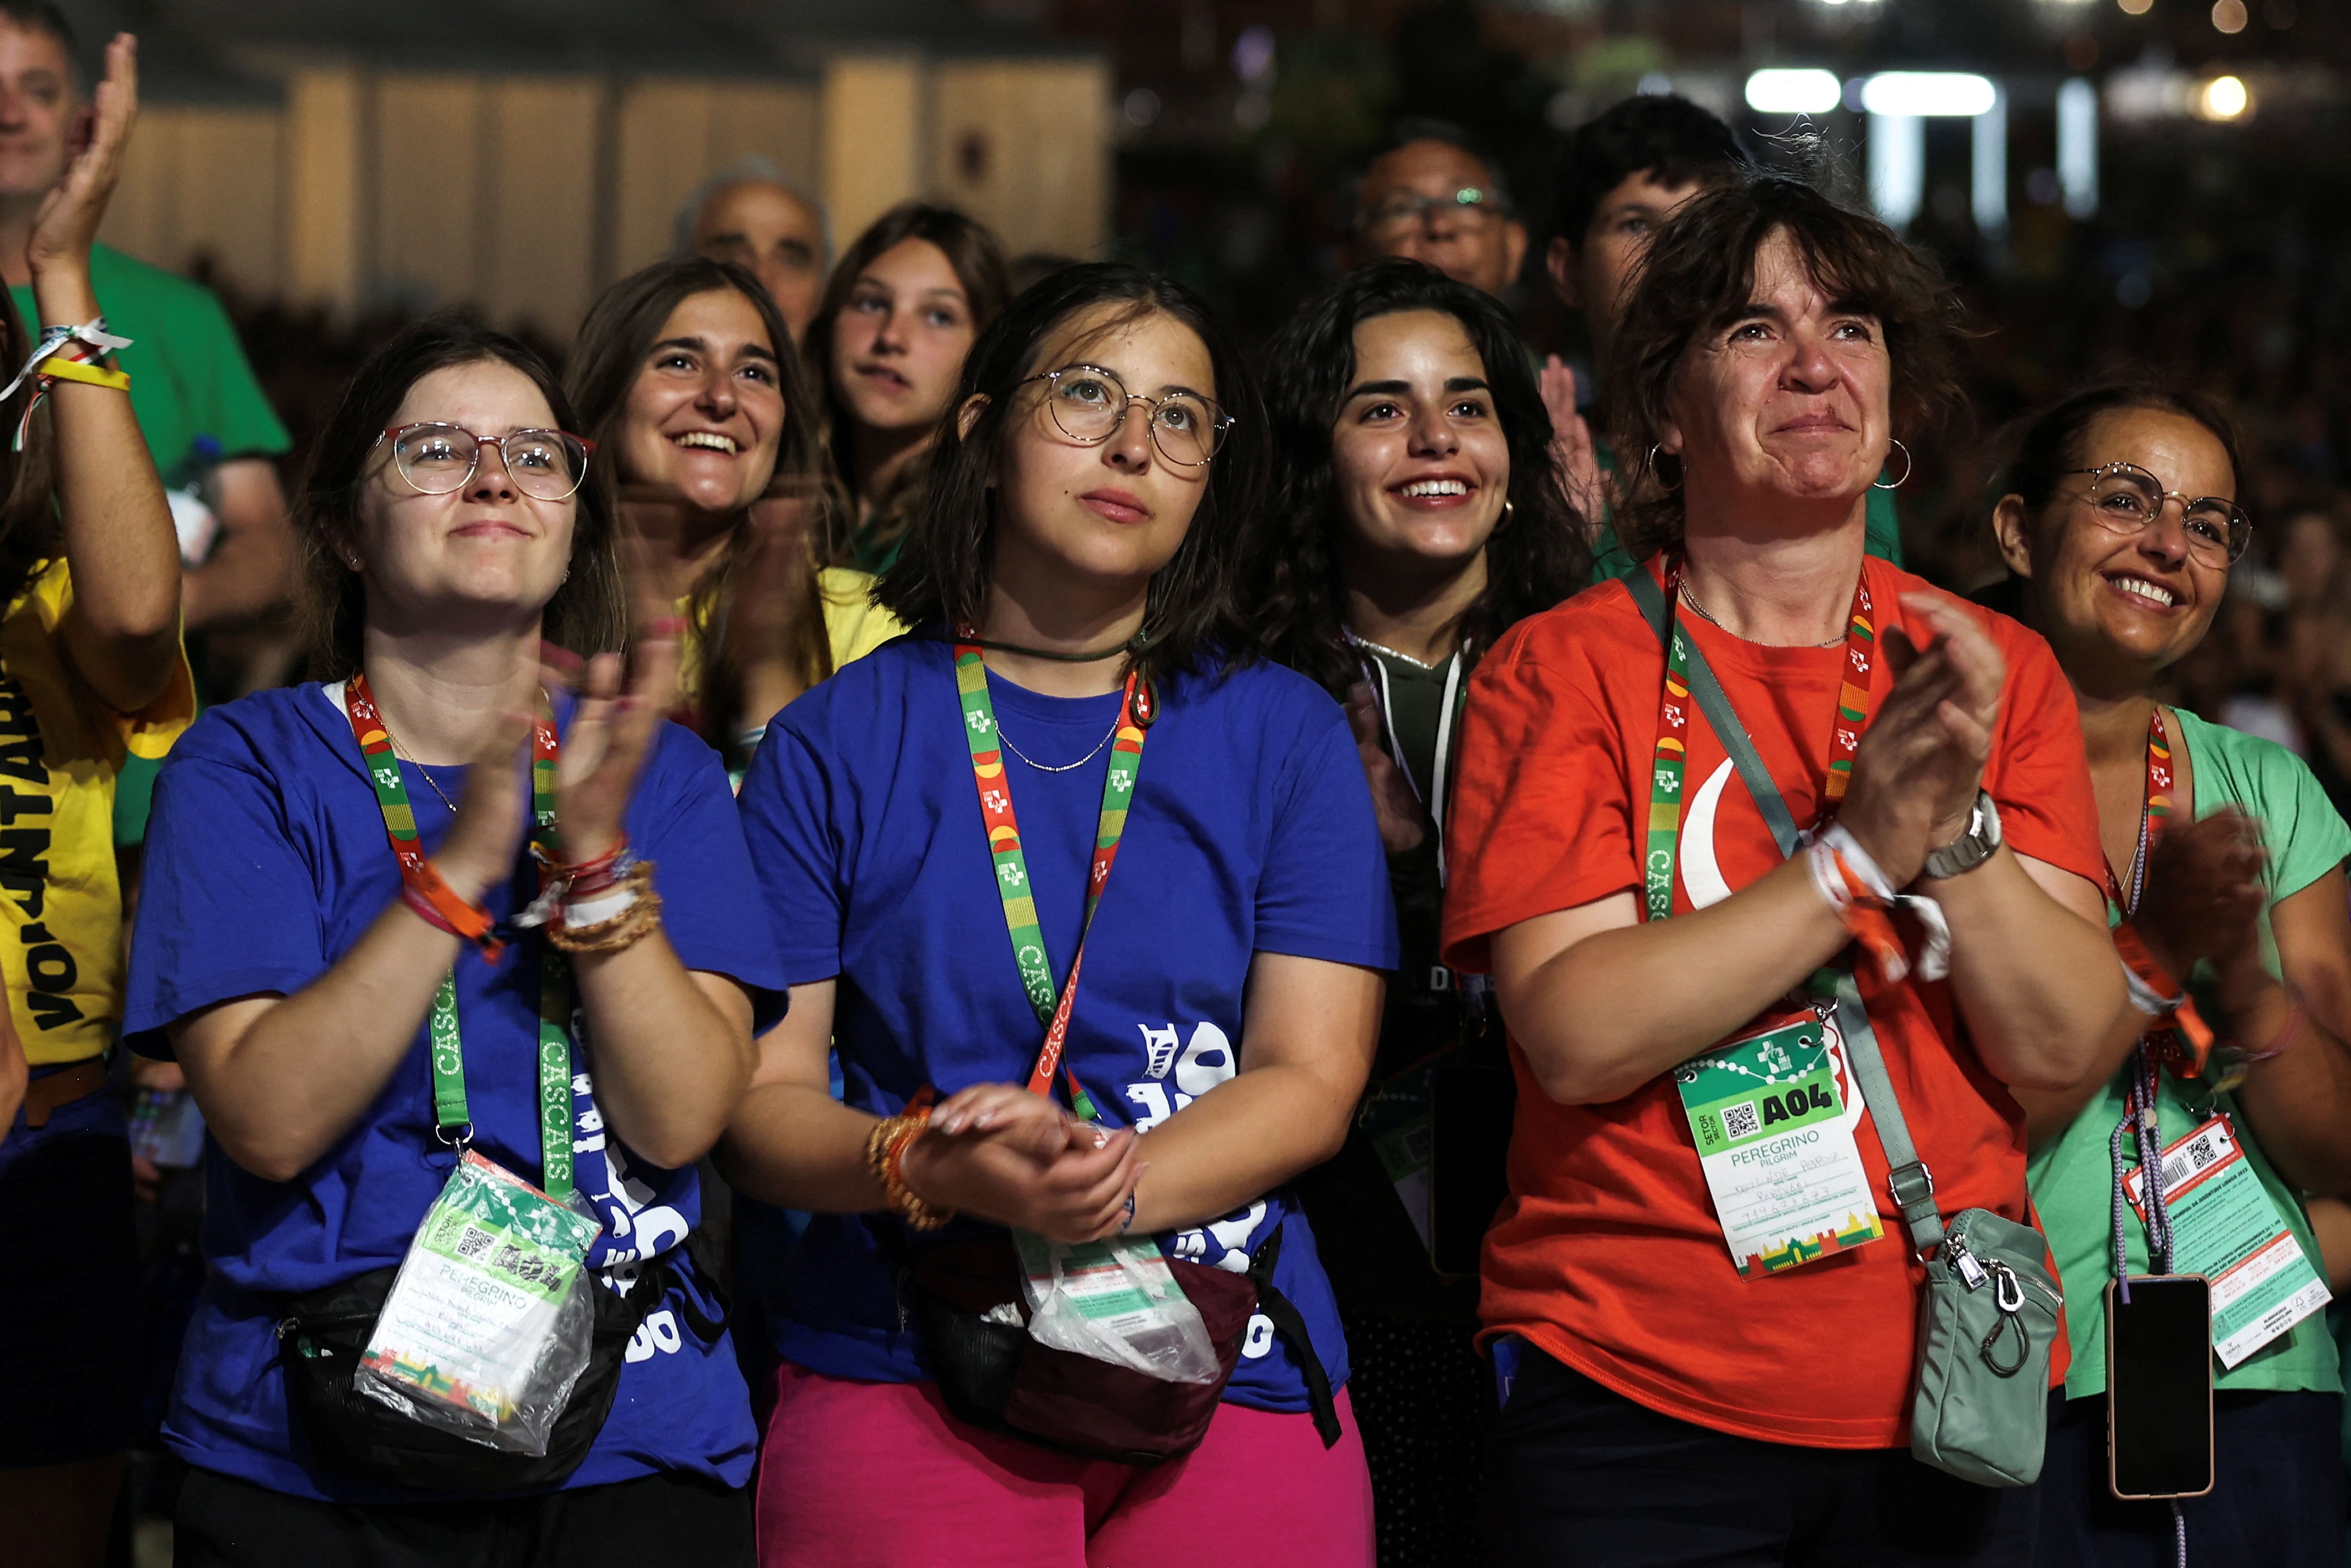
{"type": "Polygon", "coordinates": [[[569,395],[621,475],[642,623],[686,623],[679,717],[741,769],[766,719],[900,628],[863,571],[818,569],[823,449],[792,336],[724,261],[658,261],[609,287],[569,395]]]}

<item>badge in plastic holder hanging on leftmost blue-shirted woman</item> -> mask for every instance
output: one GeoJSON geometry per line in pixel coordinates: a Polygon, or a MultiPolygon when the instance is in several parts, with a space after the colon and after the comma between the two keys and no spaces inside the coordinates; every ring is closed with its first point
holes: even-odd
{"type": "Polygon", "coordinates": [[[473,1150],[426,1211],[355,1375],[402,1415],[545,1455],[588,1368],[602,1225],[473,1150]]]}

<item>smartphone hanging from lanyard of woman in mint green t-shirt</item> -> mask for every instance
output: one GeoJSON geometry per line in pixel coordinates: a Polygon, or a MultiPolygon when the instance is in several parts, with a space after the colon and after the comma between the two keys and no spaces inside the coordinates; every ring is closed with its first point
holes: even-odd
{"type": "Polygon", "coordinates": [[[2106,1284],[2106,1486],[2116,1497],[2212,1490],[2212,1284],[2106,1284]]]}

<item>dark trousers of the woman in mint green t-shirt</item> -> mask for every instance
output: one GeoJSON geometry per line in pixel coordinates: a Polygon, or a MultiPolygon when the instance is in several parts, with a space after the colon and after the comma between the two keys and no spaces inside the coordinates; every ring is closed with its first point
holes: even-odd
{"type": "MultiPolygon", "coordinates": [[[[2342,1394],[2215,1394],[2212,1490],[2182,1497],[2191,1563],[2342,1568],[2342,1394]]],[[[2034,1568],[2170,1568],[2170,1502],[2106,1486],[2106,1401],[2069,1399],[2050,1422],[2034,1568]]]]}

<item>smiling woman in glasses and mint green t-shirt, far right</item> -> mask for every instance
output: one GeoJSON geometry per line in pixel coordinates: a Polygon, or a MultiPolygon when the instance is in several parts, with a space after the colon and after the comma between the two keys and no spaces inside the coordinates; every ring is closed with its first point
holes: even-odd
{"type": "Polygon", "coordinates": [[[2222,1041],[2196,1077],[2158,1032],[2074,1091],[2017,1091],[2074,1338],[2036,1563],[2172,1559],[2170,1505],[2118,1502],[2104,1453],[2116,1232],[2132,1274],[2163,1272],[2149,1227],[2114,1204],[2139,1164],[2135,1133],[2118,1135],[2135,1093],[2154,1095],[2165,1150],[2226,1119],[2184,1150],[2168,1204],[2170,1272],[2215,1281],[2215,1486],[2182,1505],[2193,1552],[2342,1561],[2342,1382],[2299,1194],[2351,1190],[2351,827],[2285,748],[2158,701],[2250,541],[2241,473],[2203,397],[2102,386],[2027,428],[1994,512],[2020,611],[2081,703],[2114,917],[2191,976],[2222,1041]],[[2233,1182],[2226,1206],[2210,1201],[2219,1182],[2233,1182]],[[2255,1251],[2259,1265],[2236,1267],[2255,1251]]]}

